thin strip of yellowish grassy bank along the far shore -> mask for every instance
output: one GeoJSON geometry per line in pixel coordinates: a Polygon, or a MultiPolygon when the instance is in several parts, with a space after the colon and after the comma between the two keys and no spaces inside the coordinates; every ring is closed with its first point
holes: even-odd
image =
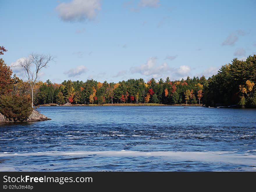
{"type": "Polygon", "coordinates": [[[106,103],[106,104],[70,104],[70,105],[56,105],[55,103],[38,105],[41,106],[201,106],[202,104],[174,104],[174,105],[166,105],[166,104],[159,104],[159,103],[106,103]]]}

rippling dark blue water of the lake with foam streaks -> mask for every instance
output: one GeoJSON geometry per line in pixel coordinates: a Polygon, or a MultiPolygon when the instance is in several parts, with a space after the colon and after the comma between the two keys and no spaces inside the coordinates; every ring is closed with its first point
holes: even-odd
{"type": "Polygon", "coordinates": [[[0,125],[0,171],[256,171],[256,110],[40,107],[0,125]]]}

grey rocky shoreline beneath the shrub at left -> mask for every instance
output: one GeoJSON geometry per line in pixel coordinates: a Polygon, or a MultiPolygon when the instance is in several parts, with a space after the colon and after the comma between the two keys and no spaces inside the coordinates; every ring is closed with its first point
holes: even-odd
{"type": "MultiPolygon", "coordinates": [[[[26,121],[23,121],[23,122],[47,121],[47,120],[51,120],[51,119],[48,118],[47,116],[39,113],[38,111],[33,110],[31,115],[29,116],[29,118],[26,121]]],[[[13,119],[8,119],[3,114],[0,113],[0,123],[12,123],[12,122],[21,122],[21,121],[14,121],[13,119]]]]}

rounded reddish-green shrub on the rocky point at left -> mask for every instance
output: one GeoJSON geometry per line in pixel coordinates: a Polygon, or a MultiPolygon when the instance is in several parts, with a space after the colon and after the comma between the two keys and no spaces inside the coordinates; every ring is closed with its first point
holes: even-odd
{"type": "Polygon", "coordinates": [[[25,121],[33,111],[28,96],[1,95],[0,113],[13,121],[25,121]]]}

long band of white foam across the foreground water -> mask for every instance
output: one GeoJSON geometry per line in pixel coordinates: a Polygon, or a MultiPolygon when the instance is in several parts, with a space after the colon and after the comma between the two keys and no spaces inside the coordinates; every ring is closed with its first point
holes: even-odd
{"type": "Polygon", "coordinates": [[[209,152],[186,152],[186,151],[46,151],[14,154],[10,152],[1,153],[0,157],[10,156],[75,156],[83,157],[87,155],[99,155],[107,157],[159,157],[172,161],[197,161],[197,162],[222,162],[231,164],[242,164],[256,166],[256,155],[254,154],[237,154],[236,151],[209,151],[209,152]],[[40,153],[40,154],[38,154],[40,153]]]}

